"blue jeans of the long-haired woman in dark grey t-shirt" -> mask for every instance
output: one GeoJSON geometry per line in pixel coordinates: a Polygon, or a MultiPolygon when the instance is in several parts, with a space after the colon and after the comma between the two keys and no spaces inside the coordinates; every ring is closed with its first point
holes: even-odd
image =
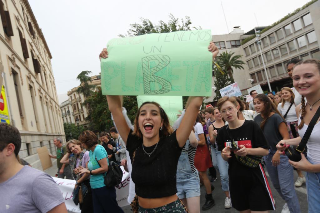
{"type": "Polygon", "coordinates": [[[300,204],[294,189],[292,166],[285,155],[280,156],[278,166],[273,166],[271,160],[275,153],[276,151],[269,149],[269,154],[263,157],[271,182],[282,199],[288,204],[290,212],[300,213],[300,204]]]}

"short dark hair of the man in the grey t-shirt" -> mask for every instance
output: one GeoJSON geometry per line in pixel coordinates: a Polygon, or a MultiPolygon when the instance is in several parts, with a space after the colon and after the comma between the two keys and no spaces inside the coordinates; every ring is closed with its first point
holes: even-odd
{"type": "Polygon", "coordinates": [[[19,130],[14,126],[1,122],[0,135],[0,151],[2,152],[9,143],[12,143],[15,147],[14,154],[17,157],[21,148],[21,136],[19,130]]]}

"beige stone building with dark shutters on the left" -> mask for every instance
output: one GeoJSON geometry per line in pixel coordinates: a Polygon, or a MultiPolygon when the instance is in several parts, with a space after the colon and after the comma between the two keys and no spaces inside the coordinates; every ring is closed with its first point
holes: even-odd
{"type": "Polygon", "coordinates": [[[20,157],[42,169],[37,148],[53,155],[65,141],[51,53],[27,0],[0,0],[0,63],[9,120],[21,134],[20,157]]]}

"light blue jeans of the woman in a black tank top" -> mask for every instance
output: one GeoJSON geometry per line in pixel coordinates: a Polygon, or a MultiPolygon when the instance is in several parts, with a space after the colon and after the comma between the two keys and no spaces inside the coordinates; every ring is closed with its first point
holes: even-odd
{"type": "Polygon", "coordinates": [[[222,159],[221,152],[218,148],[211,147],[212,164],[214,168],[219,170],[221,185],[223,191],[229,191],[229,175],[228,175],[228,162],[222,159]]]}

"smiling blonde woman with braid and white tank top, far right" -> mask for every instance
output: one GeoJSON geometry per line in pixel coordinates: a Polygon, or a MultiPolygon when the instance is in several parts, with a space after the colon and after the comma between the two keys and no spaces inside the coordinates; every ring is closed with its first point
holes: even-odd
{"type": "MultiPolygon", "coordinates": [[[[289,145],[298,145],[300,143],[311,119],[320,106],[320,60],[307,59],[298,62],[293,68],[292,77],[294,88],[302,95],[301,105],[299,104],[296,107],[300,136],[290,140],[279,141],[276,147],[282,154],[284,154],[284,149],[288,148],[289,145]]],[[[307,158],[304,154],[301,154],[302,159],[299,162],[289,160],[292,166],[307,172],[308,212],[320,212],[320,125],[318,120],[319,118],[317,118],[316,125],[307,142],[307,158]]]]}

